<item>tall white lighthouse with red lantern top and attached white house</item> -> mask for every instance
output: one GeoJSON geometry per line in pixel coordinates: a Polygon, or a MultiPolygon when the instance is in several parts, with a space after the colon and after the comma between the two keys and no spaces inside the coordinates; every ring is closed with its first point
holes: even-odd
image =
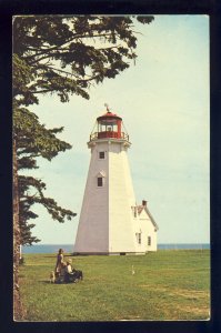
{"type": "Polygon", "coordinates": [[[143,254],[157,250],[158,225],[147,201],[135,202],[122,118],[107,112],[90,134],[88,179],[76,236],[77,254],[143,254]]]}

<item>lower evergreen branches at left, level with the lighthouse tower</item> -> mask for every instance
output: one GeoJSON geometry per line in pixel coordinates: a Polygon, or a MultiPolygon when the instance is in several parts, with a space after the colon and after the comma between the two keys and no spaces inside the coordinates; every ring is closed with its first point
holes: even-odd
{"type": "MultiPolygon", "coordinates": [[[[46,129],[40,124],[38,117],[26,108],[14,107],[14,139],[17,141],[17,163],[18,172],[37,169],[37,158],[41,157],[51,161],[59,152],[71,149],[71,145],[59,140],[56,134],[62,132],[63,128],[46,129]]],[[[46,198],[46,184],[33,176],[18,175],[19,185],[19,223],[21,231],[21,244],[39,242],[32,236],[32,229],[36,224],[29,220],[38,218],[31,211],[33,204],[42,204],[53,220],[64,222],[70,220],[76,213],[58,205],[51,199],[46,198]]]]}

